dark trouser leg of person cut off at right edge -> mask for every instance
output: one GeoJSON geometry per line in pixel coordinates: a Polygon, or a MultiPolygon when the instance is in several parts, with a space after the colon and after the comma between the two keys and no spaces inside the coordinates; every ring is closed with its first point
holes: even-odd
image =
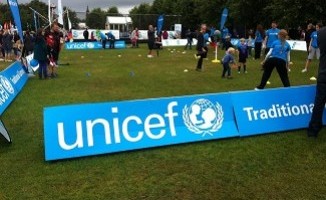
{"type": "Polygon", "coordinates": [[[308,134],[317,136],[323,127],[323,112],[326,103],[326,83],[317,82],[315,105],[309,122],[308,134]]]}

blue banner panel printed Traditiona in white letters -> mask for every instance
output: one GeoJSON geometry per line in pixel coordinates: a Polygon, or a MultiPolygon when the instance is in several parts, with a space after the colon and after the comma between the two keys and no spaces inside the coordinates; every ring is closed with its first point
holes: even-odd
{"type": "Polygon", "coordinates": [[[307,128],[315,90],[315,86],[300,86],[232,93],[240,135],[307,128]]]}

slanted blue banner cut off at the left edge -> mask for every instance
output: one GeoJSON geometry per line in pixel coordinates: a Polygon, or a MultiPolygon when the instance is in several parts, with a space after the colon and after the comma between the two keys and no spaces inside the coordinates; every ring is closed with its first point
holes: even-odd
{"type": "Polygon", "coordinates": [[[22,90],[27,79],[20,62],[15,62],[0,72],[0,115],[22,90]]]}

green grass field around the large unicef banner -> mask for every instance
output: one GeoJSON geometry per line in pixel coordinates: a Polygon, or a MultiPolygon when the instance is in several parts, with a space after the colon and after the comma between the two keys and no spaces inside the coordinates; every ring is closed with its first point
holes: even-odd
{"type": "MultiPolygon", "coordinates": [[[[0,138],[0,200],[326,199],[326,129],[317,139],[295,130],[45,162],[45,107],[252,90],[260,81],[260,61],[252,58],[248,74],[233,70],[227,80],[211,62],[212,49],[203,72],[194,70],[194,50],[173,49],[151,59],[145,45],[65,50],[61,63],[70,65],[59,68],[57,79],[31,78],[1,116],[13,143],[0,138]]],[[[315,84],[309,78],[317,73],[316,60],[301,73],[306,56],[291,54],[292,85],[315,84]]],[[[276,71],[270,82],[267,88],[282,86],[276,71]]]]}

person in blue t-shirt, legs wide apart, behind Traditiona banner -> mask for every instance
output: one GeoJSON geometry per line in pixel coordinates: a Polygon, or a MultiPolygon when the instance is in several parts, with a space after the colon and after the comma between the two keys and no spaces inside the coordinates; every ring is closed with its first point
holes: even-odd
{"type": "Polygon", "coordinates": [[[268,79],[270,78],[274,68],[281,78],[284,87],[290,87],[290,81],[287,70],[287,63],[290,62],[291,46],[286,41],[288,33],[282,29],[278,33],[278,39],[273,42],[265,60],[262,62],[264,73],[260,84],[256,89],[264,89],[268,79]]]}

